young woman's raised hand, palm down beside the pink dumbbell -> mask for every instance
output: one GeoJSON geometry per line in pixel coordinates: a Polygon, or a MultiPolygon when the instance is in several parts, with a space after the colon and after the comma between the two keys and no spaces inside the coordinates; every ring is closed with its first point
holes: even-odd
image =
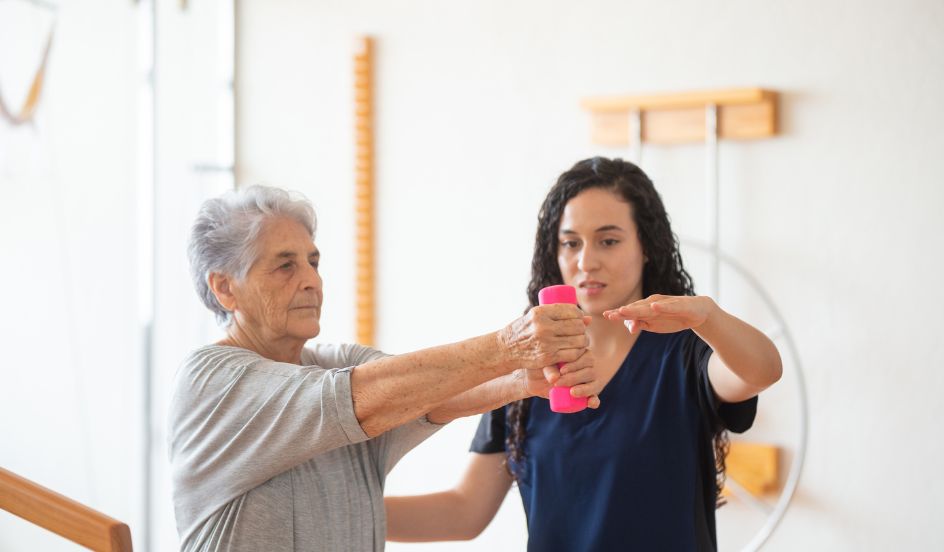
{"type": "Polygon", "coordinates": [[[603,316],[607,320],[622,320],[633,334],[642,330],[673,333],[701,326],[717,308],[715,302],[706,296],[650,295],[605,311],[603,316]]]}

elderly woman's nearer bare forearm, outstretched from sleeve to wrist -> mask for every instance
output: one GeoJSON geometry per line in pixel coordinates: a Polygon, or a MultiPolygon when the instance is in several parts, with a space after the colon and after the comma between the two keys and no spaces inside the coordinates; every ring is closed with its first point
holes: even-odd
{"type": "Polygon", "coordinates": [[[419,418],[464,391],[510,372],[497,333],[384,358],[351,375],[354,414],[370,437],[419,418]]]}

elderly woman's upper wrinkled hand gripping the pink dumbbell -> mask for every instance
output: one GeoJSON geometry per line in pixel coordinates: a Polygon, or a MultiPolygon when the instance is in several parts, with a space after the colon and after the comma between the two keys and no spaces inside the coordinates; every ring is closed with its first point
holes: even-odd
{"type": "Polygon", "coordinates": [[[580,358],[590,343],[590,320],[576,305],[540,305],[505,326],[498,336],[510,365],[542,369],[580,358]]]}

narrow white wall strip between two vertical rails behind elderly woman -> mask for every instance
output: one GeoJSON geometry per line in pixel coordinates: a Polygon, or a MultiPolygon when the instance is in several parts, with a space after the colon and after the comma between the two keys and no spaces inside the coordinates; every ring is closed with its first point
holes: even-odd
{"type": "Polygon", "coordinates": [[[157,3],[154,336],[151,403],[149,550],[178,546],[167,461],[167,411],[174,374],[193,349],[219,338],[197,298],[187,263],[200,204],[233,187],[232,4],[228,0],[157,3]]]}

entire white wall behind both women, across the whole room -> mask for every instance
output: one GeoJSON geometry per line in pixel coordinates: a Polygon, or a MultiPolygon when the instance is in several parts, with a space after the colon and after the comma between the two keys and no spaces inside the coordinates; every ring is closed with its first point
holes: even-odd
{"type": "MultiPolygon", "coordinates": [[[[192,166],[229,161],[215,148],[226,140],[215,134],[211,68],[225,16],[218,3],[190,4],[159,3],[159,74],[171,80],[157,134],[156,550],[176,542],[162,463],[169,380],[190,346],[212,339],[183,244],[196,205],[225,186],[192,166]]],[[[391,352],[490,331],[520,312],[547,187],[577,159],[623,153],[589,144],[580,98],[781,90],[782,136],[722,147],[723,243],[782,309],[811,398],[803,485],[769,549],[944,547],[934,523],[944,511],[934,423],[944,292],[915,285],[944,268],[944,6],[506,4],[237,3],[239,178],[316,203],[328,294],[320,339],[353,338],[355,34],[378,39],[378,337],[391,352]],[[473,287],[482,301],[452,301],[473,287]]],[[[14,109],[51,23],[32,9],[0,2],[0,90],[14,109]]],[[[127,521],[135,536],[146,439],[139,299],[149,285],[138,265],[149,244],[138,220],[147,203],[138,16],[132,2],[63,2],[35,124],[0,121],[0,465],[127,521]]],[[[644,160],[684,236],[705,232],[701,164],[697,147],[644,160]]],[[[765,395],[764,427],[794,405],[787,383],[765,395]]],[[[456,422],[411,453],[390,491],[452,484],[474,425],[456,422]]],[[[721,516],[734,525],[724,542],[735,542],[741,518],[721,516]]],[[[390,549],[518,550],[524,539],[511,494],[476,541],[390,549]]],[[[72,548],[0,513],[0,550],[23,549],[72,548]]]]}

